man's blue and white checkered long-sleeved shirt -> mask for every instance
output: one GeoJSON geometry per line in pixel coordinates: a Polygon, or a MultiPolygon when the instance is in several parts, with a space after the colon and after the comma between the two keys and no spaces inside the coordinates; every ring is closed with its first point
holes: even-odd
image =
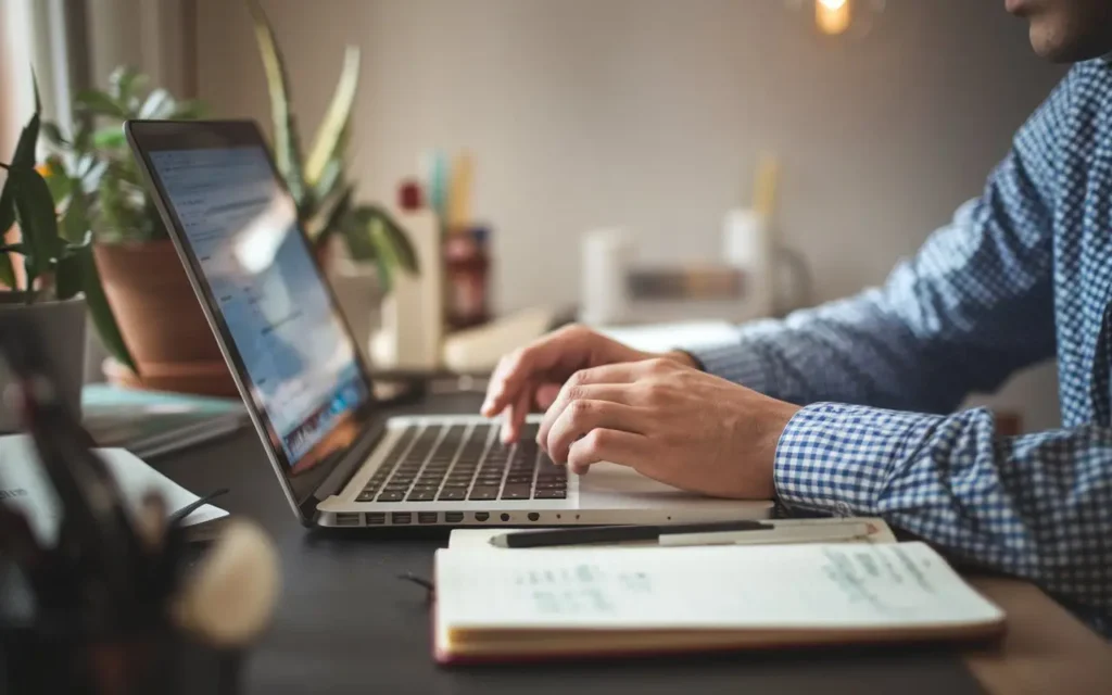
{"type": "MultiPolygon", "coordinates": [[[[805,405],[776,450],[788,506],[877,515],[1036,583],[1112,636],[1112,64],[1074,66],[980,198],[883,287],[689,346],[805,405]],[[955,411],[1058,357],[1062,428],[955,411]]],[[[1051,398],[1046,394],[1046,398],[1051,398]]]]}

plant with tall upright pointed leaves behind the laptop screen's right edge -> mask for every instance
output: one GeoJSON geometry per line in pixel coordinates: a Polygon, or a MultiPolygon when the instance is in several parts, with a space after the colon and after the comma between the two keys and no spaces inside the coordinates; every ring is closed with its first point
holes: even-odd
{"type": "Polygon", "coordinates": [[[297,205],[297,215],[317,260],[329,276],[366,349],[374,311],[398,272],[417,274],[417,254],[385,208],[357,202],[356,183],[347,177],[351,109],[359,86],[358,47],[344,54],[336,91],[307,156],[301,150],[286,64],[274,29],[258,0],[247,0],[255,23],[270,95],[272,149],[278,170],[297,205]],[[339,245],[337,245],[339,241],[339,245]]]}

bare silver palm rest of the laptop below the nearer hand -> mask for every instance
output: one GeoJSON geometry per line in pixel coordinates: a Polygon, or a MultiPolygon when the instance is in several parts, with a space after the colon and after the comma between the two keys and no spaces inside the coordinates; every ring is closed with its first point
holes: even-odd
{"type": "Polygon", "coordinates": [[[693,505],[736,507],[738,500],[716,499],[697,493],[686,493],[617,464],[595,464],[586,475],[579,476],[580,508],[638,509],[693,505]]]}

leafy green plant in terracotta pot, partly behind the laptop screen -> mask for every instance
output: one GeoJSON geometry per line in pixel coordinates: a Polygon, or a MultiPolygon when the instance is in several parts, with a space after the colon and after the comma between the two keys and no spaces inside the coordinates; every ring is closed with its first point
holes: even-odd
{"type": "MultiPolygon", "coordinates": [[[[48,125],[56,147],[51,169],[79,182],[87,228],[123,349],[111,355],[109,380],[158,390],[236,396],[228,367],[197,301],[162,219],[143,185],[121,125],[128,119],[191,119],[198,101],[179,101],[149,89],[129,68],[111,76],[108,90],[73,100],[72,133],[48,125]]],[[[69,191],[56,190],[56,197],[69,191]]]]}

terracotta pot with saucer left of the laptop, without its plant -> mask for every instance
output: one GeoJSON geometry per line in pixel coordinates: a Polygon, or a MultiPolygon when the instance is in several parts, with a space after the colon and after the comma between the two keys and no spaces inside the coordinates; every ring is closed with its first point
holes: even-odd
{"type": "Polygon", "coordinates": [[[139,370],[110,360],[110,381],[156,390],[238,396],[181,260],[169,240],[95,247],[105,294],[139,370]]]}

